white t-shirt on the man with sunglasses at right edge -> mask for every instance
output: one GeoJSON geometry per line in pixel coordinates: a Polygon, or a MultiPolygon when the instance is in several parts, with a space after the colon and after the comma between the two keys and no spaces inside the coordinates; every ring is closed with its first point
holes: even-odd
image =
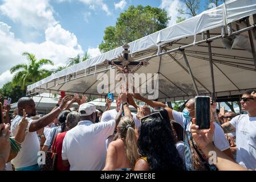
{"type": "Polygon", "coordinates": [[[247,169],[256,168],[256,117],[242,114],[234,117],[230,124],[235,127],[237,137],[237,163],[247,169]]]}

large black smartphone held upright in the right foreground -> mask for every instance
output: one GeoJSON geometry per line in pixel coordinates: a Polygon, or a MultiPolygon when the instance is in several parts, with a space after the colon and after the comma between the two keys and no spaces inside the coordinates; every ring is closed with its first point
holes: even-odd
{"type": "Polygon", "coordinates": [[[199,129],[210,128],[210,97],[196,96],[196,125],[199,129]]]}

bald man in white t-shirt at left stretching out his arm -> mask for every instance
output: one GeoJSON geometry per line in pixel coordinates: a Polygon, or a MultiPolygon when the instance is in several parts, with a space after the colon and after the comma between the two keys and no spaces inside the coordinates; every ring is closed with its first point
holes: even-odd
{"type": "Polygon", "coordinates": [[[32,98],[22,97],[18,101],[18,115],[14,118],[11,125],[11,133],[13,136],[17,134],[18,124],[22,121],[23,109],[25,109],[27,114],[27,125],[26,136],[21,144],[21,150],[18,155],[11,160],[17,171],[36,171],[39,170],[38,166],[38,151],[40,151],[40,143],[36,134],[36,131],[47,126],[52,122],[62,111],[69,100],[72,97],[66,96],[63,98],[59,107],[56,107],[51,113],[45,115],[39,119],[31,119],[29,117],[36,115],[35,102],[32,98]]]}

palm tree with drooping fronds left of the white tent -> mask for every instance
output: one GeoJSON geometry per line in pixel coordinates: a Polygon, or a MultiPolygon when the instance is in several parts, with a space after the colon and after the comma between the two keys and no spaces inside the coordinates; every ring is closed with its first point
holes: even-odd
{"type": "Polygon", "coordinates": [[[10,69],[11,73],[16,72],[13,77],[14,85],[21,85],[21,88],[25,89],[28,84],[33,84],[34,82],[51,75],[51,71],[40,69],[46,64],[54,65],[51,60],[41,59],[37,61],[35,55],[29,52],[24,52],[22,55],[27,56],[29,64],[17,64],[10,69]]]}

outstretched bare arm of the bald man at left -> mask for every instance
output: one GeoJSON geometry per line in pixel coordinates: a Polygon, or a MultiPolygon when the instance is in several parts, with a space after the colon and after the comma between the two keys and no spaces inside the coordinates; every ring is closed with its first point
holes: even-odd
{"type": "Polygon", "coordinates": [[[62,99],[60,106],[57,107],[55,110],[51,111],[51,113],[44,115],[42,118],[33,120],[30,124],[29,132],[33,132],[33,131],[42,129],[42,127],[45,127],[49,123],[51,123],[59,115],[59,113],[66,107],[67,102],[70,100],[72,100],[71,96],[65,96],[62,99]]]}

